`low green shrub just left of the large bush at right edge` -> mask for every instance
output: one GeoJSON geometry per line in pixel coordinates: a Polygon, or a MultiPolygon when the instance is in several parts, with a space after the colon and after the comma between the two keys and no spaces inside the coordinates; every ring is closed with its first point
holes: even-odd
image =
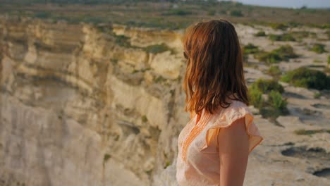
{"type": "Polygon", "coordinates": [[[258,79],[256,82],[254,82],[252,85],[252,87],[255,87],[257,89],[259,89],[260,92],[262,93],[269,93],[271,92],[271,90],[283,93],[284,92],[284,88],[281,84],[279,84],[279,82],[277,82],[276,80],[265,80],[265,79],[258,79]]]}

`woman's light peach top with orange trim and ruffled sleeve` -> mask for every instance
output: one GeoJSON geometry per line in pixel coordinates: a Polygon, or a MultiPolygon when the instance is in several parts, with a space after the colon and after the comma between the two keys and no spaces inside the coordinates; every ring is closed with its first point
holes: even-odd
{"type": "Polygon", "coordinates": [[[190,114],[190,121],[178,136],[178,157],[176,180],[185,185],[220,185],[220,161],[217,135],[221,128],[245,117],[245,127],[249,135],[249,155],[263,137],[253,122],[253,116],[242,101],[231,100],[231,106],[221,108],[216,113],[190,114]]]}

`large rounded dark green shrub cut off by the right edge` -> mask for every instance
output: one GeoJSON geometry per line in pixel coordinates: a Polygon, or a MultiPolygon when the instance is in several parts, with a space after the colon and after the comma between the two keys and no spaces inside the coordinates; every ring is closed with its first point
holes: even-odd
{"type": "Polygon", "coordinates": [[[312,89],[330,89],[330,77],[319,70],[300,67],[288,71],[281,77],[283,82],[289,82],[297,87],[312,89]]]}

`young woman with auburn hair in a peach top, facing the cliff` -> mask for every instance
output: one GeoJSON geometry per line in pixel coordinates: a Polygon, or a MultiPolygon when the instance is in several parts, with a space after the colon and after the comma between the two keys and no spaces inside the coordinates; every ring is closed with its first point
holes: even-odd
{"type": "Polygon", "coordinates": [[[241,186],[248,156],[263,137],[247,107],[235,27],[223,19],[190,25],[183,49],[190,121],[178,136],[176,180],[181,186],[241,186]]]}

